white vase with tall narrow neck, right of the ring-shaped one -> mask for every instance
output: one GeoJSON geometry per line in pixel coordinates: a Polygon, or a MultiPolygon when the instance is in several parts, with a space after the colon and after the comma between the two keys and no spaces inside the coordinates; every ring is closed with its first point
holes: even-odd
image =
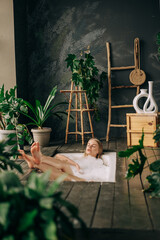
{"type": "Polygon", "coordinates": [[[158,112],[158,106],[153,97],[153,81],[148,81],[148,84],[149,84],[148,98],[143,106],[143,111],[145,113],[155,113],[158,112]]]}

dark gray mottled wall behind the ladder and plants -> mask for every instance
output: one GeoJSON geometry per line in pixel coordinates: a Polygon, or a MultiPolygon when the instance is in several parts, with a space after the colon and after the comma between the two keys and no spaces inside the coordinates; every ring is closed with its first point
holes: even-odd
{"type": "MultiPolygon", "coordinates": [[[[81,50],[91,47],[96,65],[100,71],[107,71],[106,41],[111,43],[112,65],[133,64],[133,42],[139,37],[141,44],[141,69],[146,72],[147,81],[154,81],[154,97],[160,108],[160,62],[157,58],[156,35],[160,31],[160,8],[158,0],[28,0],[24,1],[22,12],[18,12],[15,0],[16,46],[26,44],[27,55],[16,47],[17,84],[19,93],[33,102],[46,100],[51,88],[58,85],[55,101],[65,100],[60,89],[70,87],[71,72],[66,67],[67,54],[79,55],[81,50]],[[26,10],[24,9],[26,7],[26,10]],[[27,24],[24,21],[27,19],[27,24]],[[18,29],[19,23],[23,31],[18,29]],[[17,26],[17,27],[16,27],[17,26]],[[27,35],[24,38],[25,31],[27,35]],[[23,35],[23,37],[22,37],[23,35]],[[24,55],[26,66],[20,66],[24,55]],[[23,74],[22,74],[23,73],[23,74]],[[24,81],[20,76],[24,75],[24,81]]],[[[24,60],[23,60],[24,62],[24,60]]],[[[114,84],[129,84],[129,71],[112,74],[114,84]]],[[[142,86],[147,88],[147,81],[142,86]]],[[[93,121],[96,137],[106,136],[108,120],[108,82],[100,93],[98,102],[101,120],[93,121]]],[[[131,103],[134,90],[115,90],[115,104],[131,103]]],[[[131,110],[127,109],[127,112],[131,110]]],[[[132,110],[134,112],[134,110],[132,110]]],[[[125,110],[113,111],[113,122],[125,122],[125,110]]],[[[66,120],[60,122],[50,118],[53,139],[63,139],[66,120]]],[[[73,124],[72,124],[73,125],[73,124]]],[[[86,124],[87,125],[87,124],[86,124]]],[[[125,135],[125,130],[112,129],[112,136],[125,135]]]]}

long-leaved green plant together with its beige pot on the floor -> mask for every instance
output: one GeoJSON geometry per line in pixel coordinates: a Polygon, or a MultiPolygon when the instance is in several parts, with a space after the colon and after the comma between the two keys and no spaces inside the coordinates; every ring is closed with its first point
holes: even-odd
{"type": "Polygon", "coordinates": [[[60,119],[61,116],[59,114],[66,114],[63,111],[56,111],[56,107],[61,104],[67,104],[66,102],[59,102],[51,106],[51,102],[55,98],[55,94],[57,92],[57,86],[53,87],[52,91],[50,92],[46,103],[44,106],[41,105],[39,100],[35,101],[35,107],[31,105],[28,101],[24,101],[24,103],[28,106],[31,110],[32,115],[29,115],[26,112],[22,112],[25,116],[27,116],[32,122],[28,123],[27,125],[35,125],[37,128],[31,129],[33,133],[33,139],[35,142],[39,142],[41,147],[48,146],[50,140],[50,133],[52,131],[51,128],[43,127],[45,121],[51,116],[56,115],[60,119]]]}

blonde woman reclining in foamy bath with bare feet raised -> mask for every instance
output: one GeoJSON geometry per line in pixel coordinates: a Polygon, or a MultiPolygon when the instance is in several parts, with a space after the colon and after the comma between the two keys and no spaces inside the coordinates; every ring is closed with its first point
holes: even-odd
{"type": "Polygon", "coordinates": [[[51,180],[67,173],[66,181],[97,181],[97,179],[101,181],[102,173],[103,175],[106,173],[106,166],[101,159],[103,145],[96,138],[88,141],[84,157],[74,161],[61,154],[54,157],[45,156],[40,151],[39,143],[36,142],[31,146],[32,156],[26,155],[23,150],[19,152],[27,161],[29,168],[38,168],[42,172],[51,169],[51,180]]]}

